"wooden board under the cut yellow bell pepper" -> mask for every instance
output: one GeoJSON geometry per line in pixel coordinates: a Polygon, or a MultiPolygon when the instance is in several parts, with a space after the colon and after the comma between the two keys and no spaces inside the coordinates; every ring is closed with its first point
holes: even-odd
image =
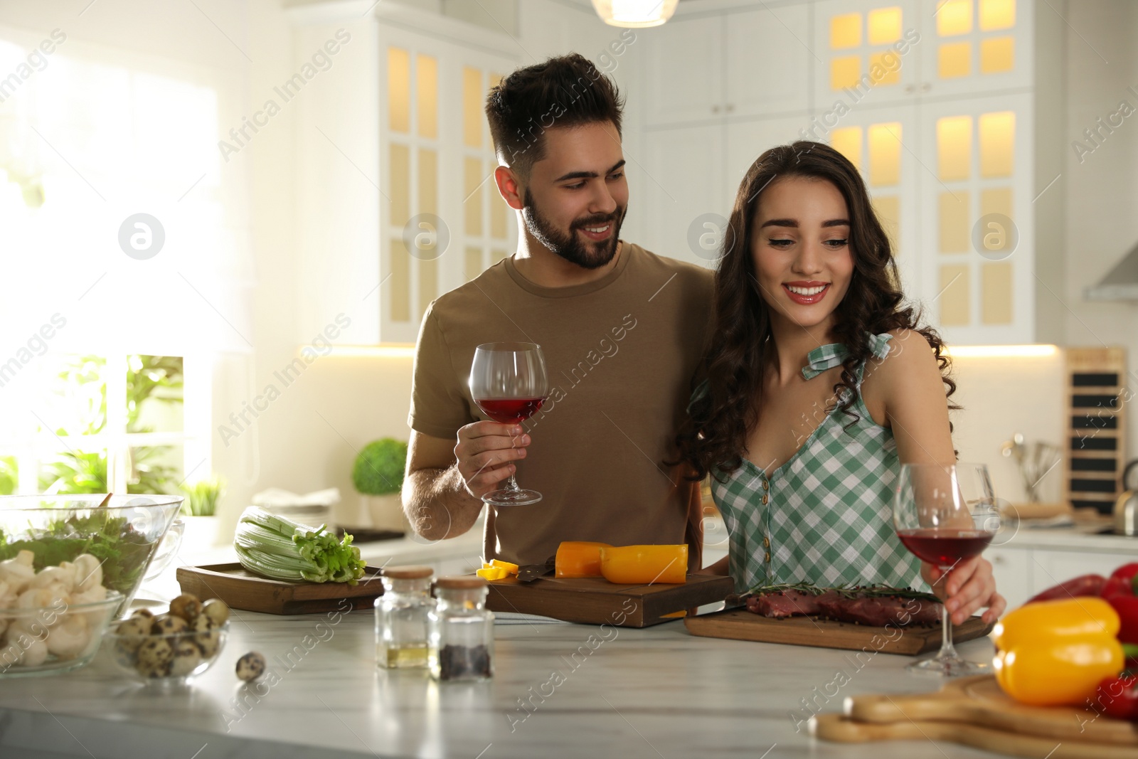
{"type": "Polygon", "coordinates": [[[712,575],[688,575],[682,585],[618,585],[602,577],[543,577],[519,583],[508,577],[489,583],[486,607],[567,622],[648,627],[669,621],[665,614],[723,601],[733,591],[734,580],[712,575]]]}

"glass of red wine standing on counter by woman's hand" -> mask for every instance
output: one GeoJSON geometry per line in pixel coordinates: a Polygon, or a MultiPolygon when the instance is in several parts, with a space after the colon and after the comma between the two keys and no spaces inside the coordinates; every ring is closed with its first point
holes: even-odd
{"type": "MultiPolygon", "coordinates": [[[[893,528],[905,547],[948,572],[979,555],[999,529],[999,511],[984,464],[904,464],[893,498],[893,528]]],[[[938,580],[939,581],[939,580],[938,580]]],[[[940,652],[908,669],[945,677],[980,675],[988,665],[966,661],[953,646],[948,609],[941,614],[940,652]]]]}

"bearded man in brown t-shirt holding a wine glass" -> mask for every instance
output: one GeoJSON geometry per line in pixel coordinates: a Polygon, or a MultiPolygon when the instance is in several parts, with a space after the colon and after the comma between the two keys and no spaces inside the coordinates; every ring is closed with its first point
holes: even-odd
{"type": "Polygon", "coordinates": [[[488,508],[486,561],[544,563],[562,541],[687,542],[700,568],[698,485],[663,462],[676,459],[712,278],[619,239],[621,109],[576,53],[520,68],[487,98],[518,250],[423,315],[403,485],[407,518],[431,539],[469,530],[511,473],[542,493],[488,508]],[[498,341],[545,354],[550,396],[522,424],[489,421],[470,397],[475,348],[498,341]]]}

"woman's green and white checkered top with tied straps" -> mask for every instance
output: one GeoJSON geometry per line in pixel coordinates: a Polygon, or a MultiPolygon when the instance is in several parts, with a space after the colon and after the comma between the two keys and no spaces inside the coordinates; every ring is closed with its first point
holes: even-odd
{"type": "MultiPolygon", "coordinates": [[[[874,358],[885,357],[891,338],[869,336],[874,358]]],[[[817,377],[848,355],[840,344],[815,348],[802,376],[817,377]]],[[[774,472],[767,475],[744,459],[725,481],[712,478],[711,493],[729,536],[728,566],[736,591],[800,581],[927,589],[920,560],[893,533],[892,498],[900,471],[897,443],[889,428],[869,416],[860,395],[864,372],[865,363],[857,368],[859,393],[850,409],[857,412],[857,422],[850,424],[850,416],[835,404],[774,472]]]]}

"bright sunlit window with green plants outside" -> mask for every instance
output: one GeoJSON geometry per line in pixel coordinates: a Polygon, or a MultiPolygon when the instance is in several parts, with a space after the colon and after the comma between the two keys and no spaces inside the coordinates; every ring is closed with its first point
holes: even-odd
{"type": "Polygon", "coordinates": [[[239,77],[0,27],[0,493],[176,493],[253,349],[239,77]]]}

